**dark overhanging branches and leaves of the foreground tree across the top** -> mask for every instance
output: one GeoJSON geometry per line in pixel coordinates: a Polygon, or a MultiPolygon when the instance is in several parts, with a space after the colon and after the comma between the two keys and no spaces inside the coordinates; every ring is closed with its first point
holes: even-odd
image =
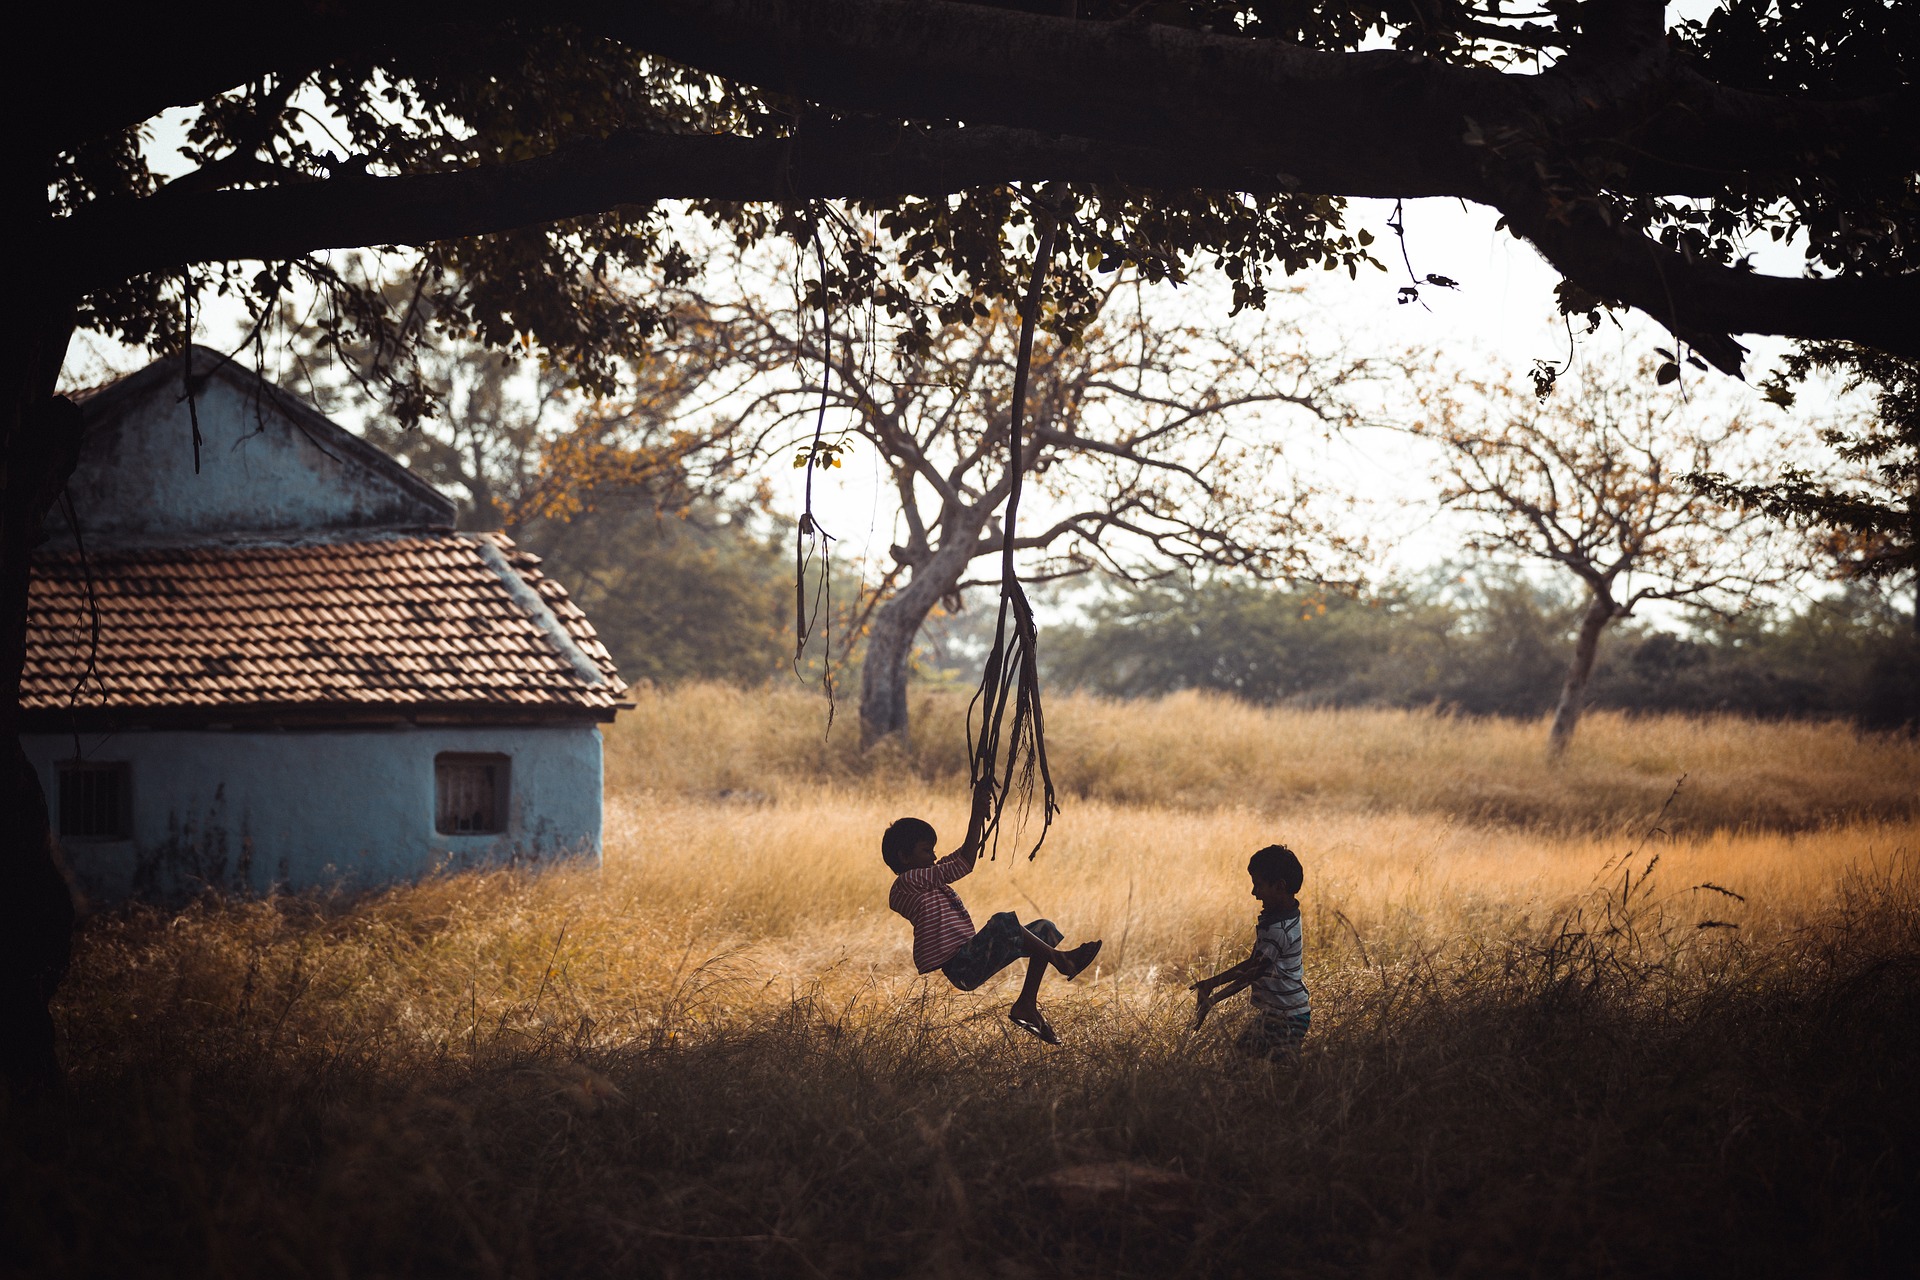
{"type": "Polygon", "coordinates": [[[1659,0],[294,0],[273,23],[230,2],[63,21],[86,92],[60,59],[15,88],[48,165],[35,284],[140,344],[179,340],[182,292],[257,301],[305,276],[332,322],[399,351],[426,317],[317,251],[413,246],[422,276],[459,274],[444,330],[532,340],[603,386],[660,320],[609,273],[687,265],[662,200],[743,238],[812,234],[845,201],[904,261],[849,248],[837,288],[912,309],[885,276],[937,271],[952,313],[1012,296],[1010,228],[1035,217],[1062,228],[1060,299],[1094,269],[1212,259],[1246,305],[1275,269],[1369,261],[1340,198],[1457,196],[1563,273],[1569,313],[1638,307],[1720,368],[1741,367],[1736,334],[1920,351],[1920,13],[1887,0],[1674,23],[1659,0]],[[196,167],[163,182],[169,109],[196,167]],[[1805,273],[1751,271],[1755,238],[1789,238],[1805,273]]]}

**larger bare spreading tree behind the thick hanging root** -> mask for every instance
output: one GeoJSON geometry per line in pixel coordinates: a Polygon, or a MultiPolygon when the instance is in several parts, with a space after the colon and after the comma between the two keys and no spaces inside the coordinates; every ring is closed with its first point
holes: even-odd
{"type": "MultiPolygon", "coordinates": [[[[789,294],[774,305],[735,278],[728,299],[703,299],[743,378],[716,409],[732,415],[743,459],[791,451],[795,466],[833,466],[856,443],[879,455],[899,539],[860,668],[860,731],[874,743],[908,727],[908,660],[929,612],[958,608],[977,585],[970,566],[1006,545],[1018,317],[989,307],[922,345],[856,313],[833,319],[828,344],[804,301],[818,292],[789,294]],[[816,451],[822,397],[829,430],[816,451]]],[[[1313,493],[1284,466],[1283,416],[1321,432],[1356,422],[1344,391],[1369,363],[1308,353],[1281,328],[1284,307],[1238,336],[1154,322],[1144,286],[1121,274],[1089,309],[1075,342],[1043,336],[1035,347],[1021,462],[1039,497],[1014,530],[1027,580],[1200,566],[1325,576],[1350,547],[1309,516],[1313,493]]]]}

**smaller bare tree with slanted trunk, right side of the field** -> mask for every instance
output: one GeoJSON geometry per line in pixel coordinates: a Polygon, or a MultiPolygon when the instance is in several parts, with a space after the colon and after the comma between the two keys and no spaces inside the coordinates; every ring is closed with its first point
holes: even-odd
{"type": "Polygon", "coordinates": [[[1438,399],[1417,430],[1440,445],[1442,501],[1476,516],[1469,545],[1555,564],[1586,589],[1548,739],[1565,754],[1584,710],[1599,637],[1647,601],[1736,612],[1791,568],[1778,528],[1688,484],[1753,474],[1755,432],[1655,388],[1651,370],[1588,367],[1572,395],[1542,403],[1511,384],[1438,399]]]}

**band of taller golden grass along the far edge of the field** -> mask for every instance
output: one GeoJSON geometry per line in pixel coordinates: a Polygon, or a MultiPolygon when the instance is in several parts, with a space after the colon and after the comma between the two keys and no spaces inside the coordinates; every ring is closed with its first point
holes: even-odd
{"type": "MultiPolygon", "coordinates": [[[[1440,712],[1288,710],[1181,693],[1048,700],[1062,794],[1150,808],[1446,814],[1473,823],[1619,831],[1682,773],[1688,827],[1818,827],[1920,814],[1920,741],[1828,722],[1597,712],[1561,764],[1546,722],[1440,712]]],[[[895,785],[966,773],[966,697],[912,700],[904,750],[858,748],[852,708],[799,689],[639,693],[607,741],[614,791],[785,796],[828,781],[895,785]]]]}

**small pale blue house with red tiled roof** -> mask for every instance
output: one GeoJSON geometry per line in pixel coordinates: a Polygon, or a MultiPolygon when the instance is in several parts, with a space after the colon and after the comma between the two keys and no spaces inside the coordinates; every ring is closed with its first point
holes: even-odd
{"type": "Polygon", "coordinates": [[[81,407],[21,712],[88,898],[599,860],[622,683],[538,557],[217,351],[81,407]]]}

